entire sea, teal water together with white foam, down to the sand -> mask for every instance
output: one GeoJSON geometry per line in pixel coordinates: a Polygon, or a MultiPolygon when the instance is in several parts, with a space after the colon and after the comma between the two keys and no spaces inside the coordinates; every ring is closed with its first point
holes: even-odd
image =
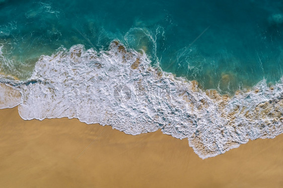
{"type": "Polygon", "coordinates": [[[213,157],[283,133],[282,34],[281,0],[0,0],[0,109],[213,157]]]}

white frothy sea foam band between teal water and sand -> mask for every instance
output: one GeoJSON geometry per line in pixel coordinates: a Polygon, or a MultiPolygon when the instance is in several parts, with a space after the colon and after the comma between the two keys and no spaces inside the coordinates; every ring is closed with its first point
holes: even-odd
{"type": "Polygon", "coordinates": [[[76,45],[41,56],[29,81],[13,87],[21,92],[24,120],[78,118],[132,135],[161,129],[187,138],[207,158],[283,132],[282,81],[270,88],[263,80],[229,98],[162,72],[145,53],[114,41],[108,51],[76,45]]]}

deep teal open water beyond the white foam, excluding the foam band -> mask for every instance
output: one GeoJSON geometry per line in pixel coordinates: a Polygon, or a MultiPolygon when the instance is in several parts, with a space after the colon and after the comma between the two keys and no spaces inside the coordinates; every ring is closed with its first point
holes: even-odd
{"type": "Polygon", "coordinates": [[[118,39],[164,71],[222,93],[283,75],[283,2],[0,1],[1,71],[27,79],[40,55],[118,39]]]}

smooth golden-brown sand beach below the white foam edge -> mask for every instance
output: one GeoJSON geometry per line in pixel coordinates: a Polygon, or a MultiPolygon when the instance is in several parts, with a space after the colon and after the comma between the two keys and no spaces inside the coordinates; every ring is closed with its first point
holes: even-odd
{"type": "Polygon", "coordinates": [[[0,187],[283,187],[282,156],[283,135],[202,160],[161,131],[132,136],[0,110],[0,187]]]}

